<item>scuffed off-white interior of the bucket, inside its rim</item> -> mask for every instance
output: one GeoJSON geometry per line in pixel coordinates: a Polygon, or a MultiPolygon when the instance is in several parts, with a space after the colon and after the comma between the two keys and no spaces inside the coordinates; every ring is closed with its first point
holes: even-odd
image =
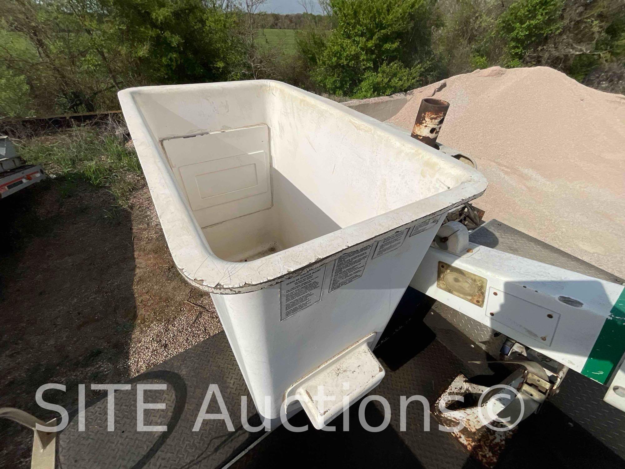
{"type": "Polygon", "coordinates": [[[434,150],[296,88],[247,83],[136,98],[181,196],[224,260],[286,250],[466,177],[434,150]]]}

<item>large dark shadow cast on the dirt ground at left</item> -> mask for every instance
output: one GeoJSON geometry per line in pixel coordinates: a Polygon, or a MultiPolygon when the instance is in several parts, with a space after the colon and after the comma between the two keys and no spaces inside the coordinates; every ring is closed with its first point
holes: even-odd
{"type": "MultiPolygon", "coordinates": [[[[34,401],[44,383],[66,385],[46,399],[68,406],[78,383],[128,375],[137,316],[130,213],[106,218],[107,191],[85,185],[61,199],[57,189],[46,181],[0,204],[1,405],[40,418],[56,416],[34,401]]],[[[9,421],[0,431],[4,462],[27,463],[31,431],[9,421]]]]}

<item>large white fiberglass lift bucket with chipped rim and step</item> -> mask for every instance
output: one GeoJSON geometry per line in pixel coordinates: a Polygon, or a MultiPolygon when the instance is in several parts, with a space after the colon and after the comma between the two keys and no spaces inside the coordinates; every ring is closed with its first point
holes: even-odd
{"type": "Polygon", "coordinates": [[[306,394],[302,382],[325,382],[322,365],[373,363],[444,214],[486,188],[466,164],[276,81],[131,88],[119,101],[176,266],[211,293],[266,418],[306,394]]]}

